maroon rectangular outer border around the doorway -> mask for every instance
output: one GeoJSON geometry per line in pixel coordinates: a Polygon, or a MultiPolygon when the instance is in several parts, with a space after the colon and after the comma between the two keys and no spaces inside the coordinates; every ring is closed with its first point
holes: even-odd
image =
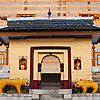
{"type": "MultiPolygon", "coordinates": [[[[30,89],[38,89],[40,88],[38,85],[38,80],[33,80],[33,55],[34,49],[68,49],[68,80],[63,81],[63,85],[61,88],[63,89],[71,89],[71,48],[70,47],[31,47],[30,50],[30,89]]],[[[40,83],[40,82],[39,82],[40,83]]]]}

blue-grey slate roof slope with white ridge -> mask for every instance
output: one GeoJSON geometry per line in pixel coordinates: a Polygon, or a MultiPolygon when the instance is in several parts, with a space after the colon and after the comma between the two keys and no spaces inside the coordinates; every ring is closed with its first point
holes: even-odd
{"type": "Polygon", "coordinates": [[[2,30],[43,30],[43,29],[64,29],[64,30],[91,30],[100,29],[93,24],[92,17],[23,17],[23,18],[8,18],[8,27],[2,30]]]}

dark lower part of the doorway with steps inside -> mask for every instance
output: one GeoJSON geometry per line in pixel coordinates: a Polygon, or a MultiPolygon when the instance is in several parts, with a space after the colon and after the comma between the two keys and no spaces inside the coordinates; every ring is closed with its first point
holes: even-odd
{"type": "Polygon", "coordinates": [[[41,74],[41,89],[60,89],[61,88],[61,74],[41,74]]]}

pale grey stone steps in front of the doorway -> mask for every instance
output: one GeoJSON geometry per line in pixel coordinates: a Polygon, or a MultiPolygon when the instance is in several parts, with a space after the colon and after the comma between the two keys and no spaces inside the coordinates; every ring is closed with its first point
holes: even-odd
{"type": "Polygon", "coordinates": [[[72,89],[30,89],[33,100],[71,100],[72,89]]]}

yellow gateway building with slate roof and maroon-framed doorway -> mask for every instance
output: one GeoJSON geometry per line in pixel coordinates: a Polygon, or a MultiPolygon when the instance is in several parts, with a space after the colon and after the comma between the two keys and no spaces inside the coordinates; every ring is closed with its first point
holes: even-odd
{"type": "Polygon", "coordinates": [[[7,23],[0,26],[0,41],[9,46],[9,78],[29,78],[30,93],[38,89],[72,93],[73,80],[92,80],[91,48],[100,42],[98,16],[66,17],[65,11],[63,17],[59,12],[53,17],[50,9],[46,13],[37,17],[25,6],[16,17],[1,17],[7,23]]]}

